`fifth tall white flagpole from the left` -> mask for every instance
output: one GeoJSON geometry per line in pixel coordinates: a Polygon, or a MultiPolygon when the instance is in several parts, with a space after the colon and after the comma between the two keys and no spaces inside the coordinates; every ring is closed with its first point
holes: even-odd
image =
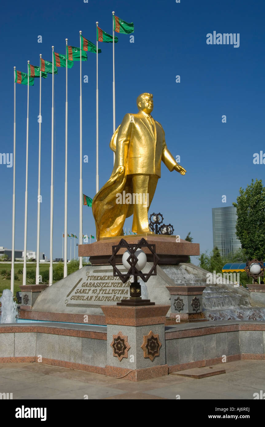
{"type": "Polygon", "coordinates": [[[68,151],[68,67],[67,67],[67,41],[66,42],[66,101],[65,101],[65,179],[64,179],[64,277],[67,277],[67,151],[68,151]]]}

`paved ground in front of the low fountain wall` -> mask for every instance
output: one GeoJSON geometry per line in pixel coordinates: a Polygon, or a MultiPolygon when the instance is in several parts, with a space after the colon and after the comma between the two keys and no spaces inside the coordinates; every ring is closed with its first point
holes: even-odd
{"type": "Polygon", "coordinates": [[[265,360],[214,365],[200,380],[169,374],[138,383],[41,363],[0,363],[0,392],[13,399],[252,399],[265,391],[265,360]]]}

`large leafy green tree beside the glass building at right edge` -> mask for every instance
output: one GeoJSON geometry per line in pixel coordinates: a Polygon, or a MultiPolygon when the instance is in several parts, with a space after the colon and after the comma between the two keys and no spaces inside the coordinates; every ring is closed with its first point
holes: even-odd
{"type": "Polygon", "coordinates": [[[265,187],[262,180],[239,190],[236,208],[236,237],[242,244],[242,249],[249,259],[264,259],[265,257],[265,187]]]}

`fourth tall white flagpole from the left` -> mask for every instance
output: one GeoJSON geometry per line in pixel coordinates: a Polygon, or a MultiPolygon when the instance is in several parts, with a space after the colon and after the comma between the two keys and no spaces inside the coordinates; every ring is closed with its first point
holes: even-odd
{"type": "Polygon", "coordinates": [[[49,286],[52,285],[52,260],[53,260],[53,148],[54,148],[54,59],[53,59],[52,46],[52,155],[51,155],[51,207],[50,207],[50,273],[49,273],[49,286]]]}

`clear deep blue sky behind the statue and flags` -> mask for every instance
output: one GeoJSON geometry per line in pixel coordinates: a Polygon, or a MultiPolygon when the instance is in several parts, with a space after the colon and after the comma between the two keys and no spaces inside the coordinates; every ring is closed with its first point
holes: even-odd
{"type": "MultiPolygon", "coordinates": [[[[191,231],[201,252],[213,249],[212,208],[230,206],[251,179],[263,179],[265,165],[253,164],[264,143],[264,13],[261,0],[145,0],[128,2],[83,0],[21,3],[2,6],[1,142],[0,152],[13,152],[13,67],[27,72],[27,60],[38,65],[39,54],[52,61],[68,44],[79,46],[79,30],[96,42],[96,21],[112,31],[112,10],[134,22],[134,43],[118,35],[115,45],[116,126],[124,114],[137,112],[140,93],[154,95],[154,119],[166,133],[172,155],[180,155],[183,177],[161,168],[161,179],[150,207],[185,238],[191,231]],[[240,46],[208,45],[207,33],[239,33],[240,46]],[[42,43],[38,43],[38,35],[42,43]],[[3,53],[5,53],[3,55],[3,53]],[[181,82],[175,82],[175,76],[181,82]],[[222,115],[227,123],[222,123],[222,115]],[[227,203],[221,203],[222,195],[227,203]]],[[[116,34],[117,35],[117,34],[116,34]]],[[[112,44],[100,43],[99,55],[99,187],[113,168],[112,44]]],[[[82,63],[83,192],[96,191],[96,55],[82,63]]],[[[42,79],[41,245],[50,252],[50,153],[52,77],[42,79]]],[[[26,92],[17,89],[17,163],[15,248],[23,248],[26,158],[26,92]]],[[[28,244],[36,250],[38,194],[39,81],[30,87],[28,244]]],[[[79,232],[79,63],[68,73],[68,233],[79,232]]],[[[65,68],[55,76],[54,257],[61,257],[64,231],[64,111],[65,68]]],[[[0,246],[12,243],[13,168],[0,165],[0,246]]],[[[125,226],[131,228],[129,218],[125,226]]],[[[91,208],[83,207],[83,232],[95,236],[91,208]]],[[[73,247],[72,247],[73,249],[73,247]]],[[[73,252],[72,252],[73,253],[73,252]]],[[[68,255],[69,257],[69,255],[68,255]]]]}

